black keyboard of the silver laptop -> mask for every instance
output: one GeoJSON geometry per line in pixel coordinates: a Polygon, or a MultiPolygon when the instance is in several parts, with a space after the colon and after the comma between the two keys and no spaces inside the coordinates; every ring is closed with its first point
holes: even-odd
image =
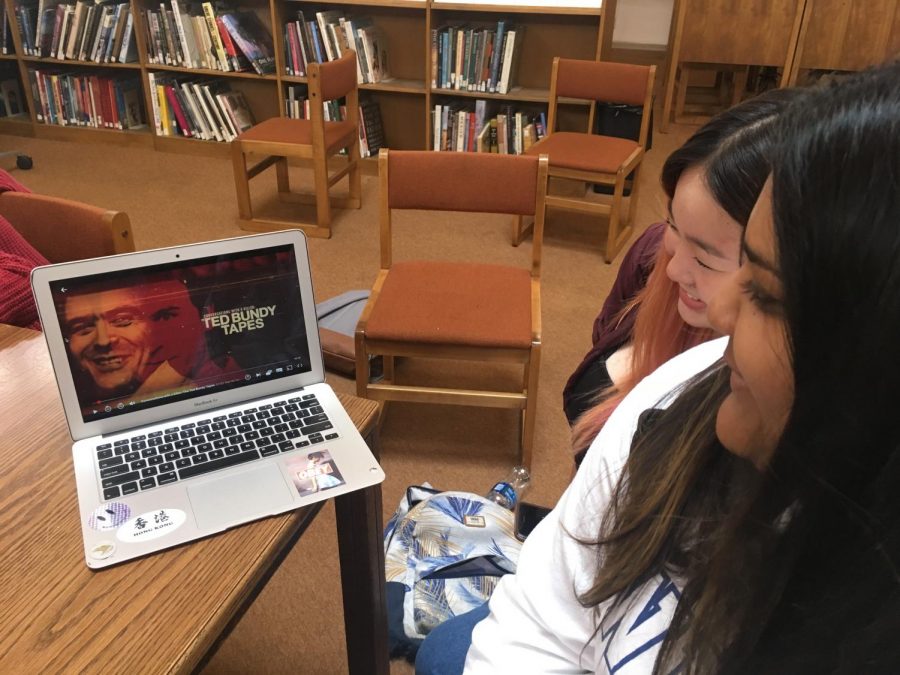
{"type": "Polygon", "coordinates": [[[315,394],[97,446],[103,498],[115,499],[337,438],[315,394]]]}

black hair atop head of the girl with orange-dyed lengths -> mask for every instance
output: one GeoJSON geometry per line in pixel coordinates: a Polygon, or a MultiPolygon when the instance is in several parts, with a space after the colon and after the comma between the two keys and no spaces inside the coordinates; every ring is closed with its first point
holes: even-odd
{"type": "Polygon", "coordinates": [[[799,89],[772,89],[702,126],[663,164],[660,182],[669,199],[675,197],[681,174],[703,166],[713,198],[746,226],[769,175],[769,153],[776,142],[772,123],[800,93],[799,89]]]}

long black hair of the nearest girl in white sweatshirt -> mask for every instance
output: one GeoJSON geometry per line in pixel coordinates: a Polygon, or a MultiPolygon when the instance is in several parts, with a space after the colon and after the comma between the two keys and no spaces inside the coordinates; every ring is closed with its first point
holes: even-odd
{"type": "Polygon", "coordinates": [[[779,125],[795,398],[769,471],[792,500],[775,559],[793,564],[770,580],[783,591],[756,646],[738,641],[725,663],[898,672],[900,62],[810,90],[779,125]]]}

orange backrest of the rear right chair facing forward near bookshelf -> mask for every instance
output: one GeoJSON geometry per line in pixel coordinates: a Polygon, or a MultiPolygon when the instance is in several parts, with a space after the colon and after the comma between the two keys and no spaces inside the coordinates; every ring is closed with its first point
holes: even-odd
{"type": "MultiPolygon", "coordinates": [[[[656,66],[563,59],[557,56],[553,59],[550,76],[548,131],[550,133],[556,131],[556,106],[560,97],[642,106],[643,116],[638,144],[643,147],[650,128],[650,106],[655,78],[656,66]]],[[[588,133],[594,128],[595,107],[591,105],[588,133]]]]}

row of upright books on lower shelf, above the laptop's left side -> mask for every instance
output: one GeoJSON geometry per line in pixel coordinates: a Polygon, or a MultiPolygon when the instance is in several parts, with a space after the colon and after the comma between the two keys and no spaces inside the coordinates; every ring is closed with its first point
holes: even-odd
{"type": "Polygon", "coordinates": [[[135,75],[29,69],[28,77],[39,122],[102,129],[145,126],[141,83],[135,75]]]}

